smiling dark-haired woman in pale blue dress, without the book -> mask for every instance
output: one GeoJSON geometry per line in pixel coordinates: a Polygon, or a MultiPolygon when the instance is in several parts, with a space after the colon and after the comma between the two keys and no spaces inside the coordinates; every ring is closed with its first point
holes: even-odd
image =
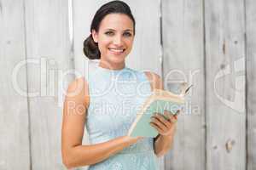
{"type": "Polygon", "coordinates": [[[62,122],[62,159],[67,168],[90,165],[89,169],[158,169],[156,156],[172,146],[177,116],[165,112],[152,117],[155,139],[126,136],[137,109],[152,89],[162,88],[152,72],[125,66],[135,36],[135,20],[129,6],[113,1],[99,8],[84,41],[84,54],[100,59],[88,80],[76,79],[67,88],[62,122]],[[84,125],[90,144],[82,145],[84,125]]]}

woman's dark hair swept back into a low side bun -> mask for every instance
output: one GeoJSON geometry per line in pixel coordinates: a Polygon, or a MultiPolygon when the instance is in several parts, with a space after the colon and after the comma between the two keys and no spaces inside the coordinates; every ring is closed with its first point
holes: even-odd
{"type": "Polygon", "coordinates": [[[101,59],[101,53],[98,48],[98,44],[94,42],[91,32],[95,30],[99,31],[101,21],[107,14],[126,14],[133,22],[133,30],[135,32],[135,20],[131,14],[130,7],[122,1],[111,1],[105,3],[96,11],[93,20],[90,24],[90,36],[84,40],[84,54],[89,59],[101,59]]]}

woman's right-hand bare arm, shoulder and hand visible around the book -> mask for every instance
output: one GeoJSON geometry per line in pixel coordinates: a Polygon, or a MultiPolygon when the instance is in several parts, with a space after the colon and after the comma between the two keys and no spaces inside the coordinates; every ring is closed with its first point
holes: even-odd
{"type": "MultiPolygon", "coordinates": [[[[151,85],[151,89],[163,89],[160,77],[153,72],[145,72],[151,85]]],[[[170,119],[177,119],[177,116],[165,113],[170,119]]],[[[166,121],[162,116],[154,116],[151,126],[155,127],[159,135],[154,139],[154,153],[156,156],[165,155],[172,148],[176,124],[166,121]]]]}

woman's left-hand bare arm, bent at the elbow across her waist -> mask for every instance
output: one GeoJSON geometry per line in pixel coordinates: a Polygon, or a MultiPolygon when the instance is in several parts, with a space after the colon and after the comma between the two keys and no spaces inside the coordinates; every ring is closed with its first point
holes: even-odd
{"type": "Polygon", "coordinates": [[[101,144],[82,145],[89,103],[87,82],[84,77],[78,78],[69,85],[63,106],[61,154],[67,168],[103,161],[140,139],[124,136],[101,144]]]}

